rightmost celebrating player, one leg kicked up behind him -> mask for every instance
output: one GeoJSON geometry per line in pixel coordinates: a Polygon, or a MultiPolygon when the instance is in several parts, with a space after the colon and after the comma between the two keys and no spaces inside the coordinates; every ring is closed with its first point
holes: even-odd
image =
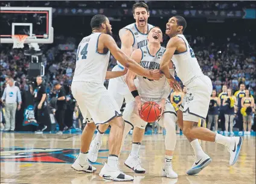
{"type": "MultiPolygon", "coordinates": [[[[199,122],[200,118],[206,118],[213,86],[210,78],[203,75],[194,55],[194,51],[190,45],[188,45],[187,39],[185,39],[183,35],[186,27],[187,22],[182,16],[173,16],[168,20],[165,34],[170,36],[170,40],[167,43],[166,51],[162,57],[160,69],[164,72],[165,77],[168,78],[168,81],[170,85],[174,87],[174,90],[179,90],[180,87],[178,82],[170,75],[169,72],[168,65],[171,59],[175,65],[178,77],[181,79],[182,83],[187,86],[187,95],[185,95],[182,102],[184,105],[181,106],[181,110],[183,110],[182,129],[184,135],[187,138],[217,142],[225,145],[230,153],[229,165],[234,165],[242,146],[242,138],[229,138],[219,135],[218,133],[211,132],[208,128],[197,127],[194,125],[199,122]]],[[[206,156],[207,155],[205,154],[205,156],[202,156],[201,159],[194,163],[195,169],[200,167],[202,169],[202,165],[210,162],[210,157],[205,159],[206,156]],[[204,161],[202,162],[202,160],[204,161]]]]}

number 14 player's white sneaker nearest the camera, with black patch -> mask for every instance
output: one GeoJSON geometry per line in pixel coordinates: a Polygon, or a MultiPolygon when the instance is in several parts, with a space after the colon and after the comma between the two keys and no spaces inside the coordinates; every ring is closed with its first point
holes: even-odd
{"type": "Polygon", "coordinates": [[[107,163],[104,163],[104,167],[101,169],[100,177],[105,180],[112,181],[133,181],[133,177],[127,174],[124,174],[123,171],[118,167],[110,167],[107,163]]]}

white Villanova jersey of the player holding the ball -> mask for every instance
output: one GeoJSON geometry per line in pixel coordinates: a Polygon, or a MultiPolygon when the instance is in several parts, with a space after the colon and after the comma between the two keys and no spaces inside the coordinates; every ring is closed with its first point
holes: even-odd
{"type": "MultiPolygon", "coordinates": [[[[151,56],[147,46],[143,46],[141,49],[142,59],[139,65],[146,69],[159,69],[162,55],[165,52],[165,48],[161,47],[156,56],[151,56]]],[[[135,85],[138,89],[139,96],[145,98],[161,98],[164,93],[164,86],[167,83],[165,77],[159,80],[149,80],[146,77],[137,74],[135,79],[135,85]]]]}

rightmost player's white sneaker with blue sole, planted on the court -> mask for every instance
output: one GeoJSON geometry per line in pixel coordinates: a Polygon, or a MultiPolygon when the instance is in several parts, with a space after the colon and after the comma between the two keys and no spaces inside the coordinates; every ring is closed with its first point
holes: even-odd
{"type": "Polygon", "coordinates": [[[210,163],[211,163],[211,158],[207,154],[205,154],[205,156],[203,157],[197,156],[196,161],[192,165],[192,168],[187,171],[187,174],[188,175],[197,174],[200,171],[202,171],[203,168],[205,168],[210,163]]]}

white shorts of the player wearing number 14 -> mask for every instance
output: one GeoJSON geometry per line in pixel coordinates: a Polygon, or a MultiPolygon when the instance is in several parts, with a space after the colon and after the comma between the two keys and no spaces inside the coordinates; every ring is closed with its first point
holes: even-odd
{"type": "Polygon", "coordinates": [[[83,117],[89,119],[88,122],[92,122],[92,118],[95,125],[106,124],[122,116],[117,103],[103,84],[73,81],[71,90],[83,117]]]}

